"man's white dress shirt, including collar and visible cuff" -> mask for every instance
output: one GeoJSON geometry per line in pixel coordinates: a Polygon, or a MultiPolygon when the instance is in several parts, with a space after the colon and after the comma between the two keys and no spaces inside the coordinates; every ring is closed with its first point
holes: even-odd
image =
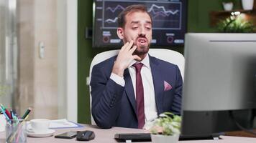
{"type": "MultiPolygon", "coordinates": [[[[132,85],[134,89],[134,95],[136,99],[136,70],[135,67],[132,66],[137,61],[133,60],[131,64],[128,66],[129,74],[132,79],[132,85]]],[[[155,119],[157,117],[157,107],[155,104],[155,89],[152,79],[152,72],[150,68],[150,58],[148,54],[145,56],[142,61],[140,61],[143,66],[141,69],[142,75],[142,84],[144,91],[144,112],[145,112],[145,122],[155,119]]],[[[114,80],[116,84],[124,87],[124,77],[119,77],[118,75],[111,73],[110,79],[114,80]]]]}

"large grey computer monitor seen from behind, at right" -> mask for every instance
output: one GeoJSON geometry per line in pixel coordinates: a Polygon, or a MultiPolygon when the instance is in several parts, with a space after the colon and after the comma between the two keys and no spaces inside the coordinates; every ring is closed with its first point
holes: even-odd
{"type": "Polygon", "coordinates": [[[185,36],[183,136],[252,127],[256,108],[256,34],[185,36]],[[232,112],[230,112],[232,111],[232,112]]]}

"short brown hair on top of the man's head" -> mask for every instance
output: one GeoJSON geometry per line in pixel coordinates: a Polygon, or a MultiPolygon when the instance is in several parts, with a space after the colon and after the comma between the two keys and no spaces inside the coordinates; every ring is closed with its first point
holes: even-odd
{"type": "Polygon", "coordinates": [[[152,17],[150,15],[150,13],[147,12],[147,7],[145,5],[142,4],[134,4],[131,6],[127,6],[127,8],[125,8],[119,15],[118,15],[118,26],[124,28],[124,25],[126,24],[126,19],[125,16],[127,16],[127,14],[132,13],[132,12],[145,12],[150,16],[150,19],[152,21],[152,17]]]}

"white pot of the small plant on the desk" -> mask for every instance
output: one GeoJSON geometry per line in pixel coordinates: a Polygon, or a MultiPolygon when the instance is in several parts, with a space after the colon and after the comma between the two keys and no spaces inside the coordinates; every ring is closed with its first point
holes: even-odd
{"type": "Polygon", "coordinates": [[[151,140],[153,143],[177,143],[180,134],[174,134],[172,136],[165,136],[162,134],[151,134],[151,140]]]}

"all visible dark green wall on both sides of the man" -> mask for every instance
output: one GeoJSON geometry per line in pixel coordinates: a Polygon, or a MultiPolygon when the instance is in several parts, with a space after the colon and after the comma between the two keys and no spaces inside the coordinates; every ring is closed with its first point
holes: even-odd
{"type": "MultiPolygon", "coordinates": [[[[239,0],[234,9],[239,9],[239,0]]],[[[93,1],[78,0],[78,122],[91,123],[90,94],[86,85],[86,77],[93,56],[109,49],[93,49],[92,40],[85,38],[86,27],[93,25],[93,1]]],[[[216,29],[209,26],[209,12],[222,10],[219,0],[188,0],[188,32],[214,32],[216,29]]],[[[172,47],[183,53],[183,47],[172,47]]]]}

